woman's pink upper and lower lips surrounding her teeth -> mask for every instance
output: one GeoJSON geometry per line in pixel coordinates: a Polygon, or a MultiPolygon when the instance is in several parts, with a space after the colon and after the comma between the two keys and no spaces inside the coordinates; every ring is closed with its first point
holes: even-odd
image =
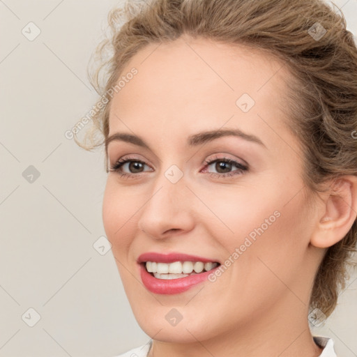
{"type": "Polygon", "coordinates": [[[202,261],[204,263],[215,260],[206,259],[203,257],[195,257],[193,255],[185,255],[181,253],[171,253],[168,255],[162,255],[160,253],[148,252],[139,256],[138,263],[140,269],[140,277],[146,289],[153,292],[154,294],[180,294],[192,287],[195,287],[200,282],[207,280],[208,275],[213,273],[216,268],[211,271],[206,271],[204,273],[188,275],[185,278],[172,279],[172,280],[161,280],[155,278],[151,273],[146,271],[144,266],[145,261],[156,261],[159,263],[173,263],[174,261],[202,261]]]}

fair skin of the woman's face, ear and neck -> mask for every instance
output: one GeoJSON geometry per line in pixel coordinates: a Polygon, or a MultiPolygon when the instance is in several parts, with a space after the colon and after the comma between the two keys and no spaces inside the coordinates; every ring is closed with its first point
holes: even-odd
{"type": "MultiPolygon", "coordinates": [[[[326,209],[328,196],[307,202],[303,154],[283,110],[286,68],[243,46],[185,37],[149,45],[122,74],[133,67],[137,75],[112,99],[109,136],[134,134],[151,149],[109,143],[109,165],[120,158],[147,165],[132,169],[135,177],[121,176],[130,174],[128,165],[109,172],[102,218],[132,311],[153,338],[150,356],[319,356],[307,322],[314,273],[353,217],[323,241],[321,225],[332,225],[323,218],[340,215],[326,209]],[[247,113],[236,105],[243,93],[255,100],[247,113]],[[233,136],[186,144],[190,135],[220,128],[240,129],[265,146],[233,136]],[[205,163],[215,158],[248,163],[248,171],[232,165],[238,174],[222,178],[227,171],[205,163]],[[172,165],[183,173],[177,183],[165,176],[172,165]],[[143,286],[142,253],[222,263],[274,211],[280,217],[215,282],[176,295],[143,286]],[[165,319],[173,307],[183,317],[176,326],[165,319]]],[[[356,202],[350,206],[356,210],[356,202]]]]}

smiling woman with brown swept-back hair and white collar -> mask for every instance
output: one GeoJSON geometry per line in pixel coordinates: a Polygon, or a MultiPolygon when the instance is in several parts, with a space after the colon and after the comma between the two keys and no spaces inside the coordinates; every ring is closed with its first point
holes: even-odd
{"type": "Polygon", "coordinates": [[[309,321],[333,312],[356,248],[343,15],[319,0],[155,0],[109,24],[81,145],[105,144],[104,227],[152,337],[122,356],[335,356],[309,321]]]}

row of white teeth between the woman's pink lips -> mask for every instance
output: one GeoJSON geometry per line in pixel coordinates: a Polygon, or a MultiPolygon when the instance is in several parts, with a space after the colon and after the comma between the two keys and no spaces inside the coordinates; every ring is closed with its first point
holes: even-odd
{"type": "Polygon", "coordinates": [[[156,263],[155,261],[146,261],[146,270],[153,273],[158,279],[178,279],[184,278],[189,274],[211,271],[218,266],[218,263],[202,261],[174,261],[174,263],[156,263]]]}

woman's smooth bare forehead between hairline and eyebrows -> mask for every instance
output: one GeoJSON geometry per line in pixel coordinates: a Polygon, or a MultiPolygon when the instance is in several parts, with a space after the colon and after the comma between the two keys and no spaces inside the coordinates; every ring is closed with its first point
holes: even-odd
{"type": "MultiPolygon", "coordinates": [[[[258,130],[262,119],[284,118],[282,77],[289,73],[266,52],[183,37],[140,50],[120,78],[132,68],[137,74],[126,79],[112,100],[109,134],[128,130],[125,123],[135,131],[151,123],[162,135],[192,132],[223,126],[230,118],[229,124],[251,131],[258,130]],[[248,112],[242,110],[245,102],[252,107],[248,112]]],[[[275,123],[281,125],[281,120],[275,123]]]]}

